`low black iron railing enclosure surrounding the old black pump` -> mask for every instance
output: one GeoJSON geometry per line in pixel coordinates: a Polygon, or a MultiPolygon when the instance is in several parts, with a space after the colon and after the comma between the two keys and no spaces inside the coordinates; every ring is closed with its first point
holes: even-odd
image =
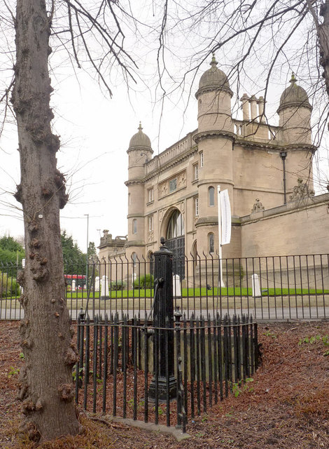
{"type": "MultiPolygon", "coordinates": [[[[127,314],[78,317],[76,402],[85,410],[179,426],[233,392],[258,368],[257,323],[216,315],[161,328],[127,314]]],[[[168,323],[167,323],[168,324],[168,323]]]]}

